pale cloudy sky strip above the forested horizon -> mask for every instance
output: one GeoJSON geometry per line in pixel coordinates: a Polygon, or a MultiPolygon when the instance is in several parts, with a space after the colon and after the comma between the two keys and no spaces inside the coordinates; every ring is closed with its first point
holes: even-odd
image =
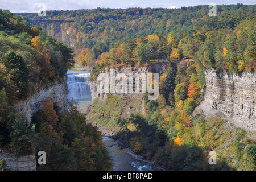
{"type": "Polygon", "coordinates": [[[80,10],[97,7],[122,9],[129,7],[179,8],[181,6],[209,5],[210,3],[216,3],[216,5],[237,3],[255,5],[256,0],[0,0],[0,9],[7,9],[13,13],[38,13],[40,10],[80,10]]]}

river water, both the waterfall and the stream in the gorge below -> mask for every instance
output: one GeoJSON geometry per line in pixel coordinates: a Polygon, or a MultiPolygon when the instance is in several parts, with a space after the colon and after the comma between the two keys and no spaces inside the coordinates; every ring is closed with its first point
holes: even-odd
{"type": "MultiPolygon", "coordinates": [[[[78,107],[92,104],[92,96],[88,80],[90,73],[86,71],[67,72],[67,85],[69,89],[68,100],[72,98],[77,101],[78,107]]],[[[86,109],[85,109],[86,110],[86,109]]],[[[152,171],[154,168],[150,162],[143,160],[139,155],[128,149],[118,147],[118,141],[103,135],[102,139],[113,159],[113,171],[152,171]]]]}

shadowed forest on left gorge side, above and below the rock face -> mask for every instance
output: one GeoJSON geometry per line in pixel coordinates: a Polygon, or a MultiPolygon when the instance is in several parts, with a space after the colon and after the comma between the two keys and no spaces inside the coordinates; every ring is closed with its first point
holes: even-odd
{"type": "MultiPolygon", "coordinates": [[[[100,133],[85,123],[75,102],[61,114],[48,98],[31,123],[15,112],[17,102],[63,77],[75,55],[41,27],[28,26],[8,10],[0,9],[0,22],[0,148],[16,156],[45,151],[47,165],[38,170],[111,169],[100,133]]],[[[5,164],[0,159],[1,171],[5,164]]]]}

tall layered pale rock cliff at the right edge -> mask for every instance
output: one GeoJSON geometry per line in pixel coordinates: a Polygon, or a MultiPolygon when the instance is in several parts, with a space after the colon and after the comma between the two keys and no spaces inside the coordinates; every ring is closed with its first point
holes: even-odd
{"type": "Polygon", "coordinates": [[[219,111],[234,124],[256,130],[256,74],[218,74],[205,71],[204,100],[211,111],[219,111]]]}

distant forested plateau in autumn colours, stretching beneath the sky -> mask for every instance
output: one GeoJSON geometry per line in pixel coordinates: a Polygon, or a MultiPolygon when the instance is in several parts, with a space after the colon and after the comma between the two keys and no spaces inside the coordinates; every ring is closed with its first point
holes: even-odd
{"type": "Polygon", "coordinates": [[[209,10],[204,5],[180,9],[47,11],[46,17],[18,15],[29,23],[42,25],[49,35],[60,34],[63,40],[69,39],[76,61],[90,67],[141,65],[147,60],[196,56],[205,67],[218,71],[254,71],[255,5],[220,5],[217,16],[209,16],[209,10]]]}

